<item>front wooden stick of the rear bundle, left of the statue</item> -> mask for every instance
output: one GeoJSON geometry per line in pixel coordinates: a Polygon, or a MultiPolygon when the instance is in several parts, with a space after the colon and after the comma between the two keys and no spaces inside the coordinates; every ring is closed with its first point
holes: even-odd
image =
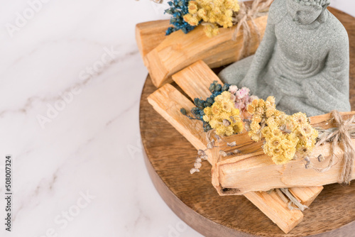
{"type": "MultiPolygon", "coordinates": [[[[267,16],[256,18],[254,22],[261,36],[266,28],[267,16]]],[[[253,24],[249,22],[251,28],[253,24]]],[[[203,26],[197,26],[190,33],[176,31],[168,35],[163,42],[146,55],[145,63],[155,87],[161,87],[170,76],[191,65],[197,60],[204,60],[209,67],[221,67],[236,62],[240,57],[243,31],[239,31],[236,41],[231,40],[236,26],[221,28],[219,34],[208,38],[203,26]]],[[[249,41],[249,55],[255,53],[259,40],[253,33],[249,41]]]]}

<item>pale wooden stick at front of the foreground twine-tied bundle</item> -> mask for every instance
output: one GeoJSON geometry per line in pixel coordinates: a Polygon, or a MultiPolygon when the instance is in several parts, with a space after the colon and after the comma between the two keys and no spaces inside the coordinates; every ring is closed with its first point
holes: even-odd
{"type": "MultiPolygon", "coordinates": [[[[343,119],[354,116],[355,112],[342,113],[343,119]]],[[[330,114],[311,117],[312,126],[329,128],[332,124],[330,114]]],[[[236,137],[234,137],[236,138],[236,137]]],[[[234,139],[232,136],[229,140],[234,139]]],[[[355,145],[355,139],[353,139],[355,145]]],[[[258,148],[258,143],[254,143],[258,148]]],[[[330,159],[330,144],[324,144],[313,150],[309,156],[310,160],[317,167],[325,167],[330,159]],[[324,162],[318,162],[317,157],[324,155],[324,162]],[[324,165],[326,164],[326,165],[324,165]]],[[[342,148],[337,148],[334,153],[339,157],[343,155],[342,148]]],[[[342,172],[342,161],[339,160],[327,172],[318,172],[312,168],[305,169],[304,160],[291,160],[285,165],[275,165],[270,157],[262,151],[239,155],[235,158],[229,158],[217,162],[214,184],[222,189],[233,190],[234,194],[244,194],[251,191],[267,191],[273,188],[281,187],[307,187],[321,186],[338,182],[339,175],[342,172]],[[268,177],[268,179],[265,179],[268,177]]],[[[352,174],[355,179],[355,170],[352,174]]],[[[291,192],[294,192],[291,191],[291,192]]],[[[297,196],[300,198],[300,196],[297,196]]]]}

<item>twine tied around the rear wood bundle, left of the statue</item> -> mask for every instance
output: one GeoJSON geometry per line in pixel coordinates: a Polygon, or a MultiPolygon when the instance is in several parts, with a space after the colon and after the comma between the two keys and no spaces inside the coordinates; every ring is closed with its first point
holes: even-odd
{"type": "Polygon", "coordinates": [[[241,45],[239,59],[241,57],[244,57],[246,49],[249,48],[251,28],[249,26],[248,21],[251,21],[251,24],[253,25],[254,32],[258,36],[258,42],[261,42],[261,33],[258,26],[256,26],[254,19],[260,16],[265,16],[268,13],[268,8],[272,4],[273,0],[263,1],[262,3],[261,1],[263,0],[254,0],[253,4],[251,4],[251,7],[246,6],[243,1],[240,1],[240,9],[235,17],[235,21],[237,22],[236,30],[234,31],[232,36],[232,40],[236,41],[236,36],[238,35],[241,27],[243,26],[243,45],[241,45]]]}

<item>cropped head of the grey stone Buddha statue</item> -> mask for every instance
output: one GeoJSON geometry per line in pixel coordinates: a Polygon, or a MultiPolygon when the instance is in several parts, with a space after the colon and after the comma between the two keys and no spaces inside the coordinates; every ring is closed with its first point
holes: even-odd
{"type": "Polygon", "coordinates": [[[330,0],[286,0],[288,14],[297,25],[324,23],[324,13],[330,0]]]}

